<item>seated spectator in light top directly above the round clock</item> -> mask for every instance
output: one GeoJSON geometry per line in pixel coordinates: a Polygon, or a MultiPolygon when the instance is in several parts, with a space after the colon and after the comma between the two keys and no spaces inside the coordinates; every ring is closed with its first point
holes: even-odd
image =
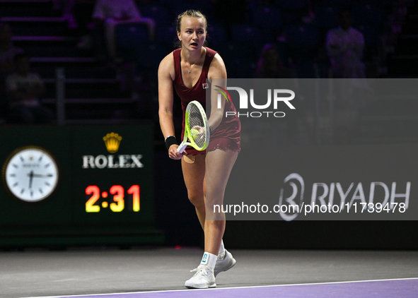
{"type": "Polygon", "coordinates": [[[14,57],[15,71],[6,78],[9,114],[13,124],[50,124],[53,114],[40,105],[39,97],[45,88],[37,73],[30,73],[29,57],[17,54],[14,57]]]}

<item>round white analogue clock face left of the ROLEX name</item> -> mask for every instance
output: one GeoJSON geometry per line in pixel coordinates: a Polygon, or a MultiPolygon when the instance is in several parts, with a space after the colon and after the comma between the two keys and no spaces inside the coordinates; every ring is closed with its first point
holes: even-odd
{"type": "Polygon", "coordinates": [[[52,156],[41,148],[23,148],[4,166],[4,180],[16,198],[37,202],[50,196],[57,187],[58,167],[52,156]]]}

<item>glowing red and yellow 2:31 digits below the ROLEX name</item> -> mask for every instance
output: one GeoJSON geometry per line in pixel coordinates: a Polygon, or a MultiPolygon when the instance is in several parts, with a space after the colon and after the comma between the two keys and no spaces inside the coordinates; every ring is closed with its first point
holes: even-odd
{"type": "MultiPolygon", "coordinates": [[[[101,197],[102,200],[102,208],[110,208],[113,212],[121,212],[124,210],[124,188],[120,185],[113,185],[110,187],[109,193],[113,195],[113,203],[108,203],[108,192],[103,191],[100,193],[100,189],[98,186],[89,185],[86,187],[86,195],[91,195],[90,198],[86,201],[86,212],[93,213],[93,212],[100,212],[100,205],[95,205],[98,199],[101,197]],[[100,196],[101,195],[101,196],[100,196]]],[[[127,190],[129,195],[132,195],[132,211],[138,212],[140,209],[139,206],[139,185],[132,185],[127,190]]],[[[130,196],[129,196],[130,197],[130,196]]],[[[111,198],[110,198],[111,199],[111,198]]],[[[129,204],[130,205],[130,204],[129,204]]]]}

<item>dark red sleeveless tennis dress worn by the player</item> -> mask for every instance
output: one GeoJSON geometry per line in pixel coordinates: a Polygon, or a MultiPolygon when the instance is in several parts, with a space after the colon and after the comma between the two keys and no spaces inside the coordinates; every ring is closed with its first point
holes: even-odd
{"type": "MultiPolygon", "coordinates": [[[[207,74],[209,72],[209,66],[211,61],[214,59],[216,52],[213,49],[206,48],[206,56],[204,58],[204,64],[202,68],[202,73],[200,73],[199,80],[197,83],[192,86],[192,88],[187,88],[182,81],[182,71],[181,71],[181,58],[180,51],[181,49],[175,49],[173,51],[174,55],[174,68],[175,68],[175,79],[173,81],[175,92],[181,99],[183,118],[182,118],[182,136],[185,135],[185,112],[186,107],[189,102],[197,100],[206,108],[206,91],[207,89],[211,90],[210,84],[207,84],[207,74]]],[[[209,146],[207,150],[199,151],[191,146],[187,146],[185,149],[185,154],[198,155],[204,154],[205,151],[213,151],[216,149],[221,150],[233,150],[240,151],[240,139],[241,139],[241,124],[238,117],[225,117],[226,112],[236,112],[236,109],[233,105],[233,102],[229,100],[225,103],[225,108],[223,110],[223,118],[221,124],[219,124],[214,131],[211,132],[211,137],[209,141],[209,146]]],[[[238,114],[238,113],[236,113],[238,114]]],[[[236,115],[235,114],[235,115],[236,115]]]]}

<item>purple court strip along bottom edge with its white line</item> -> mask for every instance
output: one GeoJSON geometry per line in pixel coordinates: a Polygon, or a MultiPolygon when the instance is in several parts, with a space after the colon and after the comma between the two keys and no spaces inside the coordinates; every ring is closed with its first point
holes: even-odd
{"type": "Polygon", "coordinates": [[[417,296],[418,278],[398,278],[255,287],[219,287],[209,290],[167,290],[29,298],[417,298],[417,296]]]}

